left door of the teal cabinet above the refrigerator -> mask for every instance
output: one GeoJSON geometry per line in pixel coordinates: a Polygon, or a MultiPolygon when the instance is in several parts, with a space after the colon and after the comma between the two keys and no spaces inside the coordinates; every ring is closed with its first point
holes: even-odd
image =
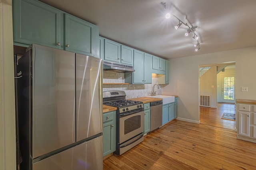
{"type": "Polygon", "coordinates": [[[60,49],[60,15],[60,10],[40,1],[13,0],[14,42],[60,49]]]}

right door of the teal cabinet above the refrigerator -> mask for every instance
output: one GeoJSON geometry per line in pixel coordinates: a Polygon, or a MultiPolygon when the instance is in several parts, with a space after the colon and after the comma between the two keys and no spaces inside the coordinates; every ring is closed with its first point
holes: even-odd
{"type": "Polygon", "coordinates": [[[64,45],[66,51],[94,56],[94,49],[98,47],[98,33],[96,25],[65,14],[64,45]]]}

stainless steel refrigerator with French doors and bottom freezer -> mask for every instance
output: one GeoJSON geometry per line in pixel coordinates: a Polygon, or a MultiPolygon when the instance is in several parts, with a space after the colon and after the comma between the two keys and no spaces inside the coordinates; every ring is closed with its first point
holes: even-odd
{"type": "Polygon", "coordinates": [[[32,44],[17,71],[20,169],[102,169],[102,59],[32,44]]]}

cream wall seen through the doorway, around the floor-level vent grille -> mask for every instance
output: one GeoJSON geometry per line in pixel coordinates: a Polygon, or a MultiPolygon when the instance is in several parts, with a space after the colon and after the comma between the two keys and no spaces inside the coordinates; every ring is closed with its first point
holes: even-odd
{"type": "Polygon", "coordinates": [[[211,107],[217,108],[217,66],[211,66],[199,79],[199,95],[210,95],[211,107]]]}

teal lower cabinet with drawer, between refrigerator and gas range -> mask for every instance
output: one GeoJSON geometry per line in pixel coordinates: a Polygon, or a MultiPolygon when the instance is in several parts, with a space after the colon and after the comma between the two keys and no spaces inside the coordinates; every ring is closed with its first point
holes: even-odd
{"type": "Polygon", "coordinates": [[[116,111],[103,113],[103,156],[116,151],[116,111]]]}

